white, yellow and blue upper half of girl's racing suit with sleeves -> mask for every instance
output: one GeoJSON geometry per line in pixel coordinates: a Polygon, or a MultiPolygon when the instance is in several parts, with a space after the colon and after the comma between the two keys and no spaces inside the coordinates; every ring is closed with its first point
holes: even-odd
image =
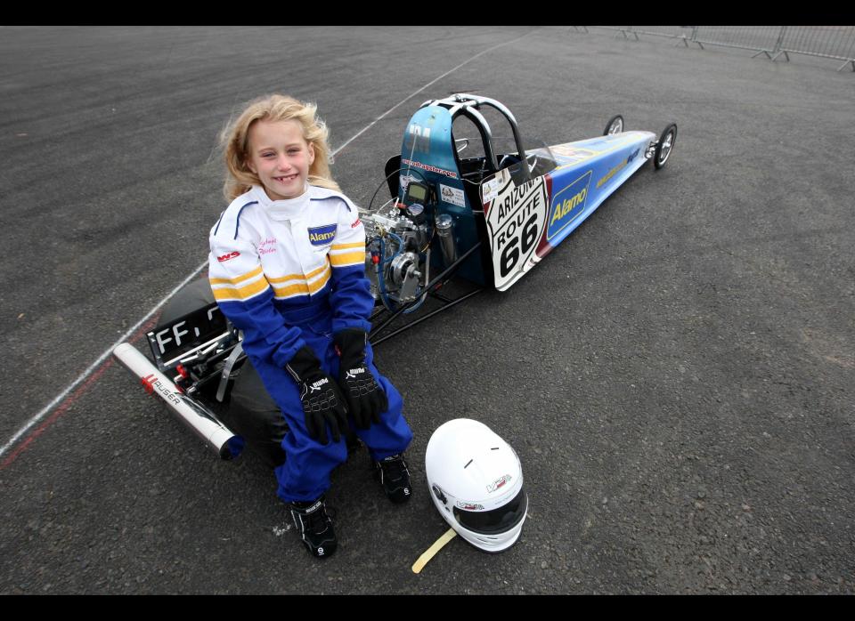
{"type": "Polygon", "coordinates": [[[314,306],[331,310],[334,333],[371,329],[365,230],[344,195],[307,186],[272,201],[254,186],[226,208],[209,242],[211,288],[250,357],[284,367],[305,345],[288,318],[314,306]]]}

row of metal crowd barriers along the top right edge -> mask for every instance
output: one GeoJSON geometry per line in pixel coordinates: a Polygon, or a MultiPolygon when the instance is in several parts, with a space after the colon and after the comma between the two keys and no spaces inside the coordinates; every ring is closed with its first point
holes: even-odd
{"type": "Polygon", "coordinates": [[[588,28],[615,31],[625,39],[640,41],[640,35],[672,38],[678,44],[718,45],[756,52],[769,60],[790,54],[843,60],[838,71],[851,65],[855,71],[855,26],[574,26],[577,32],[588,28]]]}

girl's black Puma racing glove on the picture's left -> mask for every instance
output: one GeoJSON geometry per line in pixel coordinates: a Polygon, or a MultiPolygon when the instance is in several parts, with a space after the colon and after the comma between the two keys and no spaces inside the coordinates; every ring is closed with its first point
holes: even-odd
{"type": "Polygon", "coordinates": [[[341,431],[347,430],[345,399],[330,375],[321,369],[321,363],[308,346],[297,350],[285,368],[300,387],[305,428],[321,444],[327,444],[327,425],[333,440],[341,440],[341,431]]]}

